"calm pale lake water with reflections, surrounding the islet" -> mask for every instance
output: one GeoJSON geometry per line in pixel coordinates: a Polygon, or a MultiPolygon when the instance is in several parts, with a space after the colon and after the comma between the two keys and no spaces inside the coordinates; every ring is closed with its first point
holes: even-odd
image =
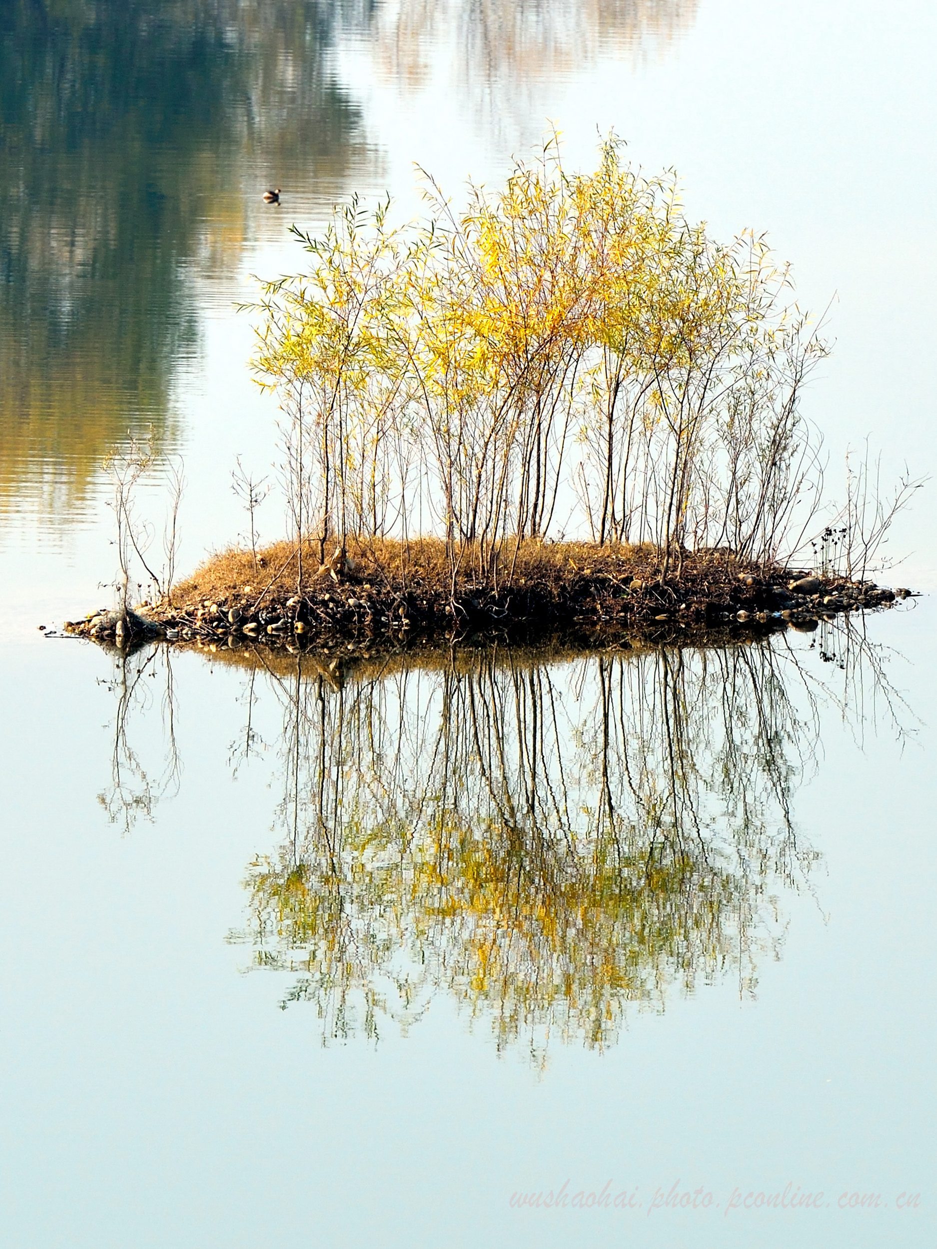
{"type": "Polygon", "coordinates": [[[277,451],[236,305],[292,222],[415,212],[414,162],[457,195],[552,124],[833,301],[831,481],[866,436],[933,472],[936,34],[920,0],[0,7],[0,1243],[933,1242],[932,486],[887,575],[923,597],[766,646],[251,666],[37,626],[106,601],[127,435],[185,460],[182,567],[244,530],[236,457],[277,451]]]}

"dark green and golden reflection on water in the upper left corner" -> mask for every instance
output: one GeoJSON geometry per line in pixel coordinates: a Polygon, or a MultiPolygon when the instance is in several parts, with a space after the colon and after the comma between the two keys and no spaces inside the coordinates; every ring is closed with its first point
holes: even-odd
{"type": "Polygon", "coordinates": [[[331,14],[2,6],[0,508],[67,502],[129,427],[164,427],[196,338],[187,269],[236,259],[269,175],[342,181],[356,117],[322,65],[331,14]]]}

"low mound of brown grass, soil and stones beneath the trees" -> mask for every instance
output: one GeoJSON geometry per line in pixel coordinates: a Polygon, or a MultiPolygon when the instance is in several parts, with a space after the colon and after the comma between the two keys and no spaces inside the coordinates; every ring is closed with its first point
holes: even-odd
{"type": "Polygon", "coordinates": [[[370,653],[472,637],[595,646],[636,633],[808,631],[908,595],[723,550],[665,567],[653,547],[525,541],[482,576],[470,558],[454,573],[439,540],[347,543],[324,562],[281,542],[224,551],[161,600],[102,608],[66,629],[121,647],[162,638],[370,653]]]}

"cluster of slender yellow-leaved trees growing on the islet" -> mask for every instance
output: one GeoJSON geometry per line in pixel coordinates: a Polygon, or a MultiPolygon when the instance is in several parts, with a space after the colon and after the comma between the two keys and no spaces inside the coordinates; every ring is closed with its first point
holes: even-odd
{"type": "MultiPolygon", "coordinates": [[[[825,347],[763,240],[688,222],[617,140],[556,140],[460,212],[430,180],[402,229],[355,200],[309,272],[269,284],[257,368],[286,413],[297,537],[442,533],[490,575],[505,542],[588,530],[777,557],[813,498],[798,400],[825,347]]],[[[300,541],[301,546],[301,541],[300,541]]]]}

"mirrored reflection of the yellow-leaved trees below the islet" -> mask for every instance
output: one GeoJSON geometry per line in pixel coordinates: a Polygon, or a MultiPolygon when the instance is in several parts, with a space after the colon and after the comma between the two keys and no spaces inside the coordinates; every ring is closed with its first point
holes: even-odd
{"type": "Polygon", "coordinates": [[[812,853],[790,819],[797,719],[771,647],[536,667],[482,657],[342,683],[297,657],[287,833],[250,871],[257,965],[325,1035],[407,1024],[437,989],[498,1044],[602,1045],[778,939],[812,853]]]}

